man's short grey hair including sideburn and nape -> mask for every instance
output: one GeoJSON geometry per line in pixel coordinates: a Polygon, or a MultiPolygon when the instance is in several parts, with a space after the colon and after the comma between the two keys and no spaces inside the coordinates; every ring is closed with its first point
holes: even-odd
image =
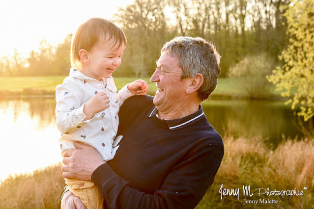
{"type": "Polygon", "coordinates": [[[182,68],[181,80],[196,77],[200,73],[203,84],[198,90],[200,101],[205,101],[214,91],[220,75],[220,58],[214,44],[200,37],[178,36],[167,42],[161,52],[170,53],[178,59],[182,68]]]}

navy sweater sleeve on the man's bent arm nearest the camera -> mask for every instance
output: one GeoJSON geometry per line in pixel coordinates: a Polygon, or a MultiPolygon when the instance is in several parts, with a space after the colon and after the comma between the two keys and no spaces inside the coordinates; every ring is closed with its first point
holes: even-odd
{"type": "Polygon", "coordinates": [[[193,209],[200,202],[214,181],[224,151],[210,146],[191,154],[173,166],[161,188],[154,194],[132,188],[108,164],[99,166],[91,180],[101,189],[109,208],[112,209],[193,209]]]}

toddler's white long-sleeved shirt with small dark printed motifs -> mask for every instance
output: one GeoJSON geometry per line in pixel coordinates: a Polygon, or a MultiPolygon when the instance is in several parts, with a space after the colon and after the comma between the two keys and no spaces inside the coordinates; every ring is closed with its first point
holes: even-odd
{"type": "Polygon", "coordinates": [[[121,137],[114,141],[119,125],[119,107],[133,96],[124,86],[118,94],[114,78],[102,78],[99,81],[89,78],[80,71],[71,68],[70,75],[56,87],[56,124],[62,133],[59,139],[61,154],[67,149],[75,149],[73,141],[80,141],[94,147],[103,157],[110,160],[114,157],[121,137]],[[84,105],[98,92],[109,96],[110,106],[83,121],[84,105]]]}

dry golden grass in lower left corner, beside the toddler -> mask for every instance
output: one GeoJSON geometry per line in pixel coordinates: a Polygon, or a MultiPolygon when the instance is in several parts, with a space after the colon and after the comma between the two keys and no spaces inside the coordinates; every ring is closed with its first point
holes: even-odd
{"type": "Polygon", "coordinates": [[[57,209],[65,186],[60,164],[4,180],[0,186],[1,209],[57,209]]]}

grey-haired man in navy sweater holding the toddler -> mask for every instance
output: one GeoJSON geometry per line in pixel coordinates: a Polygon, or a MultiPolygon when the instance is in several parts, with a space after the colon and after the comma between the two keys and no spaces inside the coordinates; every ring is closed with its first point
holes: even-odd
{"type": "MultiPolygon", "coordinates": [[[[217,84],[220,55],[202,38],[166,43],[150,80],[155,97],[137,96],[121,106],[114,159],[107,163],[89,146],[63,154],[64,178],[91,180],[104,208],[194,208],[213,183],[224,155],[221,136],[200,102],[217,84]]],[[[81,207],[67,191],[61,207],[81,207]]],[[[84,206],[83,206],[84,207],[84,206]]]]}

